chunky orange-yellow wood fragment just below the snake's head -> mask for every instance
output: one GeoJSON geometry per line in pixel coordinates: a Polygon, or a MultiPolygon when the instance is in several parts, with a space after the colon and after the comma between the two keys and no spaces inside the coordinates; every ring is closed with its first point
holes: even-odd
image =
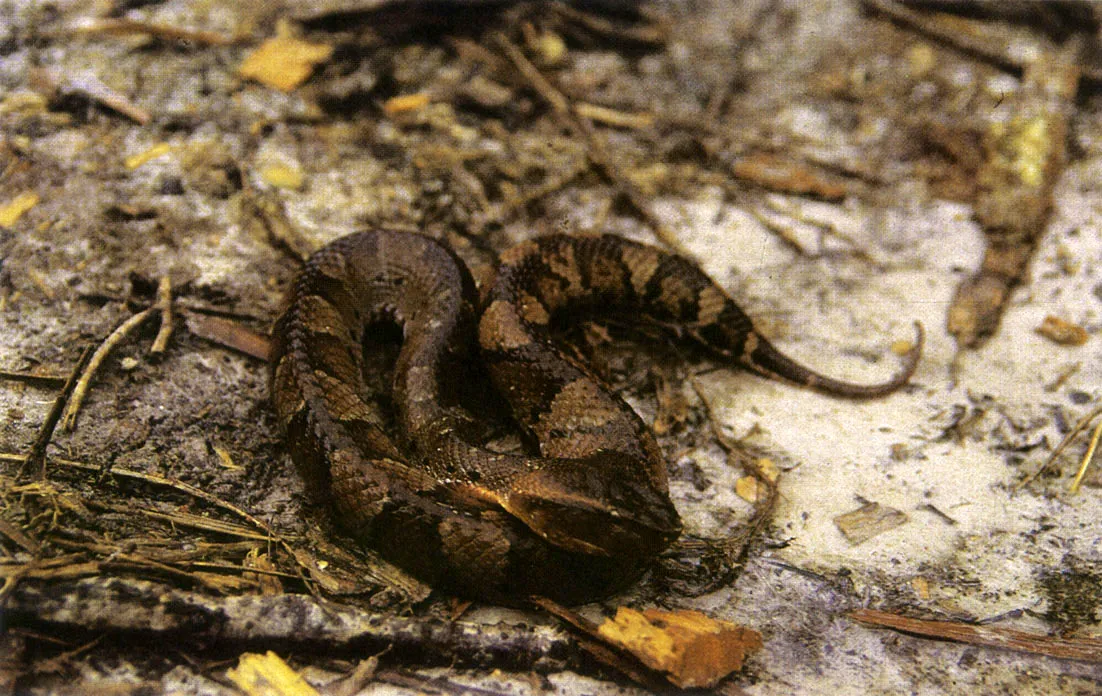
{"type": "Polygon", "coordinates": [[[761,648],[757,631],[689,610],[620,607],[597,633],[681,688],[715,686],[761,648]]]}

